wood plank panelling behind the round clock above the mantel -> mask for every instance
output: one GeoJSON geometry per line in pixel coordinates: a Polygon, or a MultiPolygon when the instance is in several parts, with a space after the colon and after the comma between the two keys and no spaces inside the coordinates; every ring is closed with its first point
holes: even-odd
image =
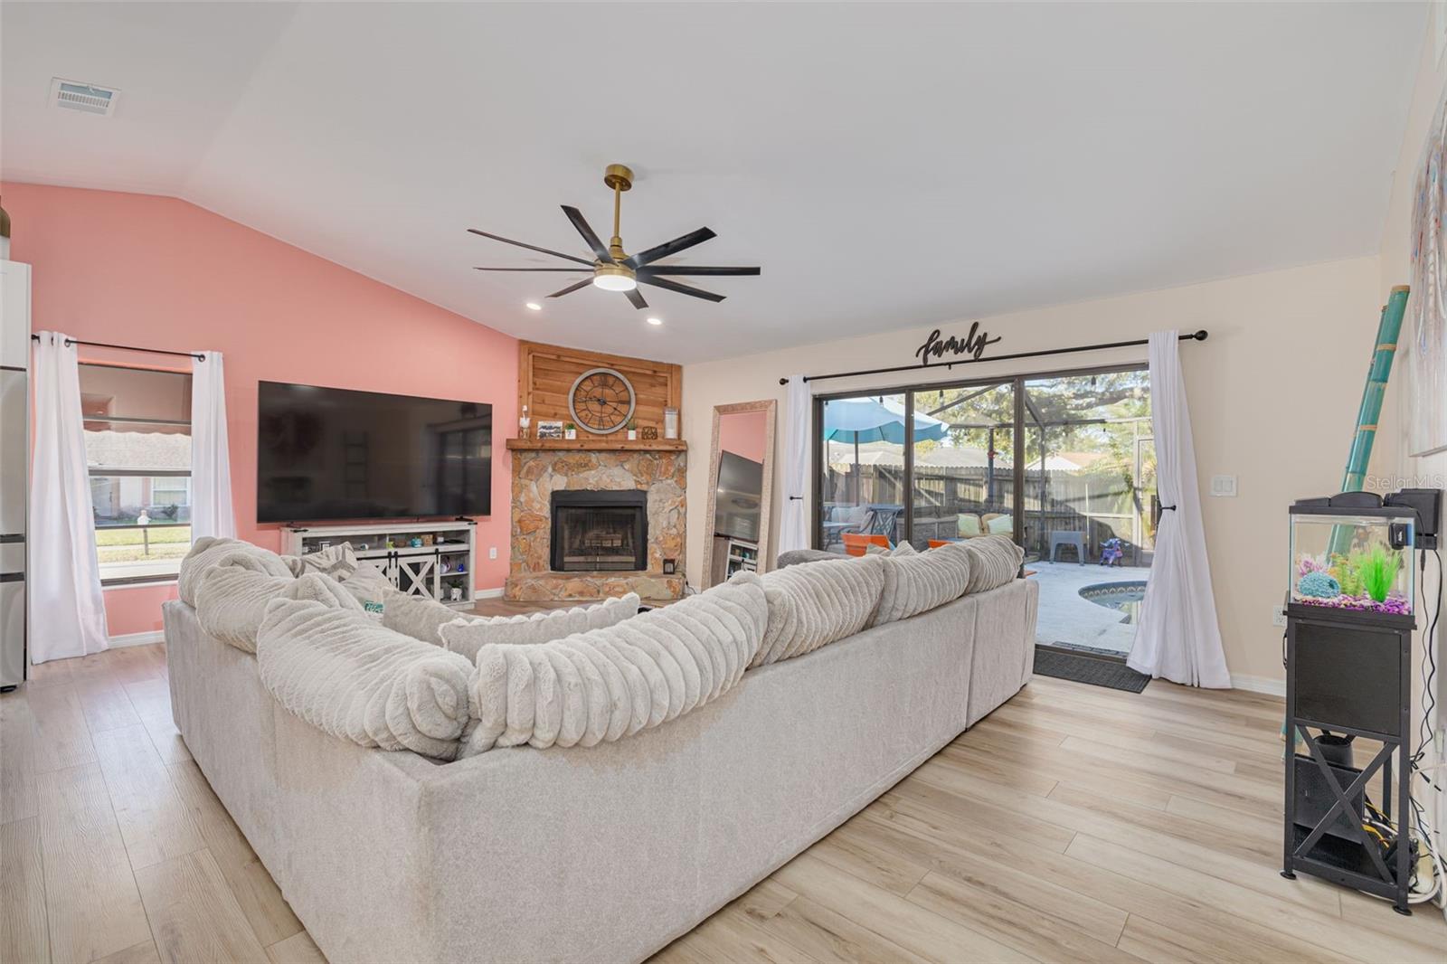
{"type": "MultiPolygon", "coordinates": [[[[682,408],[683,405],[683,368],[667,362],[650,362],[641,358],[625,358],[622,355],[603,355],[602,352],[585,352],[582,349],[566,349],[556,344],[540,344],[537,342],[518,343],[518,413],[522,405],[528,407],[532,418],[532,434],[537,434],[540,418],[572,421],[567,411],[567,392],[573,388],[577,376],[590,368],[612,368],[622,372],[634,386],[635,405],[634,420],[638,427],[654,426],[658,437],[663,439],[663,410],[682,408]]],[[[679,430],[682,434],[683,415],[679,415],[679,430]]],[[[622,436],[619,430],[614,433],[622,436]]],[[[593,436],[582,428],[579,439],[596,439],[612,436],[593,436]]]]}

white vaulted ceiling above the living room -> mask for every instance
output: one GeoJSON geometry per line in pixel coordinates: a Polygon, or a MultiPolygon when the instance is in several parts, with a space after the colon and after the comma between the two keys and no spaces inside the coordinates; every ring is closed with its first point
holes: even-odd
{"type": "Polygon", "coordinates": [[[696,362],[1372,253],[1425,20],[6,3],[0,175],[181,197],[512,334],[696,362]],[[120,88],[114,116],[52,106],[55,77],[120,88]],[[585,255],[559,206],[606,237],[611,162],[629,250],[706,224],[671,261],[764,274],[635,311],[472,269],[561,262],[467,227],[585,255]]]}

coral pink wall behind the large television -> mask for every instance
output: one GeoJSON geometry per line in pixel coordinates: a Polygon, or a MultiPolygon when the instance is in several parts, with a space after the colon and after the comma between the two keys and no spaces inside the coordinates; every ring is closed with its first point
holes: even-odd
{"type": "MultiPolygon", "coordinates": [[[[232,499],[240,538],[256,524],[256,382],[305,382],[492,404],[492,507],[478,520],[478,589],[508,572],[518,342],[300,248],[175,198],[0,185],[10,256],[33,265],[33,330],[226,356],[232,499]],[[498,559],[488,559],[488,547],[498,559]]],[[[82,360],[166,368],[185,359],[82,349],[82,360]]],[[[111,635],[161,628],[175,586],[106,592],[111,635]]]]}

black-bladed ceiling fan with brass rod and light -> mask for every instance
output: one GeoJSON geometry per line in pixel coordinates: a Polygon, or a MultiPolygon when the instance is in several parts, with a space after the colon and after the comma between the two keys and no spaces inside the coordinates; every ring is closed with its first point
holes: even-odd
{"type": "Polygon", "coordinates": [[[703,242],[715,237],[713,232],[708,227],[700,227],[696,232],[689,232],[680,237],[674,237],[671,242],[664,242],[657,248],[650,248],[641,250],[637,255],[629,255],[624,252],[624,240],[618,234],[618,213],[622,207],[622,193],[632,187],[632,171],[621,164],[609,164],[603,171],[603,184],[612,188],[614,193],[614,236],[606,246],[598,237],[592,227],[587,226],[587,220],[583,213],[576,207],[563,206],[563,213],[567,214],[567,220],[573,221],[573,227],[577,233],[583,236],[583,240],[593,250],[593,261],[586,258],[574,258],[573,255],[564,255],[559,250],[548,250],[547,248],[538,248],[537,245],[525,245],[511,237],[501,237],[498,234],[489,234],[488,232],[480,232],[476,227],[469,227],[467,230],[473,234],[480,234],[483,237],[491,237],[492,240],[501,240],[506,245],[517,245],[518,248],[527,248],[528,250],[535,250],[543,255],[553,255],[554,258],[561,258],[564,261],[574,261],[582,268],[478,268],[478,271],[547,271],[547,272],[587,272],[589,278],[572,284],[561,291],[554,291],[548,298],[561,298],[566,294],[572,294],[587,285],[596,285],[603,291],[621,291],[628,295],[628,301],[632,303],[635,308],[647,308],[648,303],[642,300],[638,292],[638,285],[653,285],[655,288],[664,288],[666,291],[677,291],[679,294],[692,295],[695,298],[703,298],[706,301],[722,301],[724,295],[713,294],[712,291],[703,291],[702,288],[695,288],[693,285],[680,284],[664,275],[757,275],[758,268],[719,268],[713,265],[654,265],[655,261],[669,258],[670,255],[677,255],[680,250],[693,248],[695,245],[702,245],[703,242]]]}

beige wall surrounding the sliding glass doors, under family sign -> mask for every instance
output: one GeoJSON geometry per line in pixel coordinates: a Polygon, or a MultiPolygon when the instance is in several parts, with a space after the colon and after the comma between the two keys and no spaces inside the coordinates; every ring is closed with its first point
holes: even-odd
{"type": "MultiPolygon", "coordinates": [[[[1334,492],[1341,482],[1362,384],[1376,334],[1378,259],[1308,265],[1210,284],[1149,291],[983,318],[1001,336],[990,353],[1027,352],[1145,337],[1160,329],[1207,329],[1210,340],[1181,347],[1211,557],[1215,605],[1233,676],[1282,679],[1281,630],[1272,606],[1286,589],[1286,505],[1298,496],[1334,492]],[[1237,498],[1210,498],[1211,475],[1236,475],[1237,498]]],[[[881,327],[886,321],[881,321],[881,327]]],[[[933,327],[933,326],[932,326],[933,327]]],[[[946,321],[945,334],[969,323],[946,321]]],[[[713,405],[777,398],[778,452],[774,520],[784,499],[786,433],[781,375],[825,373],[907,365],[930,329],[810,344],[684,368],[683,436],[689,502],[705,504],[713,405]]],[[[993,378],[1113,362],[1142,362],[1145,347],[1113,352],[980,362],[949,378],[993,378]]],[[[917,373],[820,382],[819,391],[887,388],[925,381],[917,373]]],[[[1395,436],[1378,443],[1373,466],[1396,465],[1395,436]]],[[[1382,469],[1378,469],[1382,470],[1382,469]]],[[[702,572],[706,520],[689,514],[687,572],[702,572]]],[[[1253,682],[1247,680],[1247,682],[1253,682]]]]}

